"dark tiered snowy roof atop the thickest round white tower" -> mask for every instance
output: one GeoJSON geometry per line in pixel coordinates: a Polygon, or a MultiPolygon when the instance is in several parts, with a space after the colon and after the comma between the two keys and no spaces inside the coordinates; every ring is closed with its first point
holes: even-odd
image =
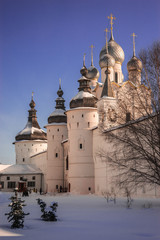
{"type": "MultiPolygon", "coordinates": [[[[80,71],[82,74],[82,71],[80,71]]],[[[96,107],[97,98],[91,94],[90,79],[88,79],[85,74],[78,80],[79,82],[79,92],[70,101],[70,108],[77,107],[96,107]]]]}

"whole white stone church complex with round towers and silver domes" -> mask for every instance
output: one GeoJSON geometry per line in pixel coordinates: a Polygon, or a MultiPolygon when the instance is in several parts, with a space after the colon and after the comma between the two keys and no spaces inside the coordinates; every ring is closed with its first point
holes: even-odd
{"type": "MultiPolygon", "coordinates": [[[[113,190],[113,173],[106,162],[97,156],[100,148],[110,149],[104,140],[100,126],[105,129],[118,128],[116,109],[118,101],[125,98],[129,90],[137,90],[148,96],[150,91],[141,84],[142,63],[135,55],[127,63],[128,80],[122,73],[124,51],[113,37],[113,16],[111,15],[111,34],[109,41],[99,54],[101,79],[93,63],[80,70],[78,92],[70,101],[70,109],[65,110],[65,100],[61,84],[57,92],[55,110],[48,117],[45,133],[37,122],[33,96],[30,102],[28,122],[15,137],[16,164],[0,171],[2,191],[12,191],[18,187],[22,191],[42,189],[43,192],[55,193],[68,191],[77,194],[102,194],[113,190]]],[[[134,35],[133,35],[134,40],[134,35]]],[[[133,41],[134,42],[134,41],[133,41]]],[[[128,103],[126,121],[134,116],[141,117],[134,109],[134,102],[128,103]],[[133,113],[133,112],[132,112],[133,113]]],[[[119,193],[117,193],[119,194],[119,193]]],[[[138,196],[158,196],[158,189],[141,191],[138,196]]]]}

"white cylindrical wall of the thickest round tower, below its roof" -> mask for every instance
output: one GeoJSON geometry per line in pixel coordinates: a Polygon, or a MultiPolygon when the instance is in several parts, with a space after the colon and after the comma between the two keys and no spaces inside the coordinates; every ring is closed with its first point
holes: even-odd
{"type": "Polygon", "coordinates": [[[96,108],[84,107],[67,111],[69,139],[68,181],[71,192],[94,193],[93,137],[91,128],[95,127],[97,123],[98,114],[96,108]]]}

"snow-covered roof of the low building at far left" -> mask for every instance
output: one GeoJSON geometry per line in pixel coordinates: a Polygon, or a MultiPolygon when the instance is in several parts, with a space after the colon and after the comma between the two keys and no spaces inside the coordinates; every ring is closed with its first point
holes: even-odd
{"type": "Polygon", "coordinates": [[[38,174],[42,171],[34,164],[15,164],[0,171],[0,174],[38,174]]]}

